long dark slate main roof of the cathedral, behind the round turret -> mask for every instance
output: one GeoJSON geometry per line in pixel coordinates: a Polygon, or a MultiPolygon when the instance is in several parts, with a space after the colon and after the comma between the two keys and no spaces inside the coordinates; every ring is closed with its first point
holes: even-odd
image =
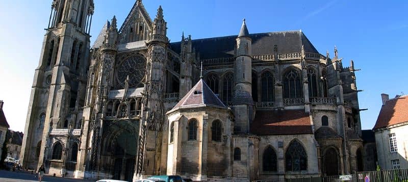
{"type": "MultiPolygon", "coordinates": [[[[192,46],[201,60],[234,57],[237,35],[192,40],[192,46]]],[[[304,51],[319,53],[309,39],[301,31],[270,32],[249,34],[252,39],[252,55],[268,55],[274,53],[277,45],[278,53],[298,53],[304,45],[304,51]]],[[[181,42],[170,44],[171,49],[180,53],[181,42]]]]}

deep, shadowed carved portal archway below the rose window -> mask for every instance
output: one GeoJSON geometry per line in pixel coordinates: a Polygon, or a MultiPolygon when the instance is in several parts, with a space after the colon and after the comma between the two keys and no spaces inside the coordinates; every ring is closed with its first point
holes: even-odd
{"type": "Polygon", "coordinates": [[[137,155],[138,120],[107,120],[104,123],[101,169],[112,179],[132,181],[137,155]]]}

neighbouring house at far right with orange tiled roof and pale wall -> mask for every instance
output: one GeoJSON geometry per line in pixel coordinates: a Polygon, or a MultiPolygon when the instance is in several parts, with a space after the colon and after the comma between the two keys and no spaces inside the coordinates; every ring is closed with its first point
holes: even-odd
{"type": "Polygon", "coordinates": [[[381,94],[382,107],[373,128],[381,169],[408,168],[408,95],[381,94]]]}

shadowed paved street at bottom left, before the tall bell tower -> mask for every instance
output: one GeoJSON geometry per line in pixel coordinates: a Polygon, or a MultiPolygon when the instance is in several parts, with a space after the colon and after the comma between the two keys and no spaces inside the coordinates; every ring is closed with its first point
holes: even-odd
{"type": "MultiPolygon", "coordinates": [[[[27,172],[10,172],[5,170],[0,170],[0,181],[2,182],[20,182],[20,181],[38,181],[38,178],[34,179],[34,175],[27,172]]],[[[44,176],[42,180],[44,182],[78,182],[78,181],[89,181],[82,179],[71,179],[71,178],[62,178],[62,177],[53,177],[53,176],[44,176]]]]}

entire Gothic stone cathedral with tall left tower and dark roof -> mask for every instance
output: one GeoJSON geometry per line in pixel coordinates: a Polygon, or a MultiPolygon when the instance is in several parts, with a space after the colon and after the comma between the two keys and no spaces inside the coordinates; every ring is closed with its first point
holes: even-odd
{"type": "MultiPolygon", "coordinates": [[[[94,43],[93,0],[54,0],[31,90],[24,167],[85,179],[268,181],[364,170],[353,61],[302,31],[169,42],[137,0],[94,43]]],[[[238,20],[240,21],[240,20],[238,20]]],[[[171,23],[171,22],[170,22],[171,23]]]]}

